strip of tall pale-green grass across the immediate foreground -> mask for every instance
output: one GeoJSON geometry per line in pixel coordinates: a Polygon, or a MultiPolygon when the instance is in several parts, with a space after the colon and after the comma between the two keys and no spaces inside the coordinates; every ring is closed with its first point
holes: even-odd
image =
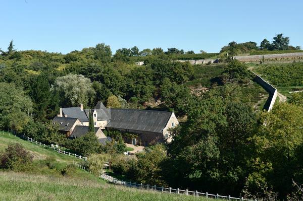
{"type": "Polygon", "coordinates": [[[15,172],[0,171],[0,181],[1,200],[213,200],[15,172]]]}

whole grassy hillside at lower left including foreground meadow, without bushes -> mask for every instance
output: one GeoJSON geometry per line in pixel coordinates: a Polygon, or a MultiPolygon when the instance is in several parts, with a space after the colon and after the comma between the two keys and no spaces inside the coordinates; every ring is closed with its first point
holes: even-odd
{"type": "Polygon", "coordinates": [[[81,169],[68,177],[62,176],[61,168],[80,160],[0,132],[0,151],[11,142],[21,143],[35,156],[36,168],[26,173],[0,170],[1,200],[212,200],[114,186],[81,169]],[[47,156],[56,158],[54,169],[41,163],[47,156]]]}

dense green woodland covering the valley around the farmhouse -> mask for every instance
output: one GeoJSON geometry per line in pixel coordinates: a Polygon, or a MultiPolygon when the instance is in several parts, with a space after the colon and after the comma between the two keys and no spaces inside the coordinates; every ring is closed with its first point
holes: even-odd
{"type": "MultiPolygon", "coordinates": [[[[277,37],[272,49],[285,49],[289,39],[277,37]]],[[[257,47],[248,43],[248,49],[257,47]]],[[[221,54],[231,56],[241,47],[230,43],[221,54]]],[[[299,200],[294,184],[303,182],[303,104],[298,99],[278,104],[271,112],[255,110],[258,97],[266,92],[252,81],[244,63],[229,56],[210,65],[174,61],[219,55],[192,53],[133,47],[112,55],[110,46],[100,43],[61,54],[17,51],[12,41],[0,55],[0,128],[57,143],[89,160],[106,160],[115,174],[136,182],[299,200]],[[135,65],[138,60],[144,65],[135,65]],[[192,86],[207,89],[194,93],[192,86]],[[121,155],[123,133],[108,132],[117,143],[104,147],[91,133],[66,139],[49,121],[60,107],[82,103],[90,108],[99,100],[111,108],[175,111],[186,118],[170,130],[170,144],[150,146],[132,159],[121,155]]]]}

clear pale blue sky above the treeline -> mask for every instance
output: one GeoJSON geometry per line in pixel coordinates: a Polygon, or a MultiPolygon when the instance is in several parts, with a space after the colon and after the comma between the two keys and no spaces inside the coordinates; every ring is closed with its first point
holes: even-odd
{"type": "Polygon", "coordinates": [[[302,0],[0,0],[0,47],[68,53],[104,42],[218,52],[283,33],[303,48],[302,0]]]}

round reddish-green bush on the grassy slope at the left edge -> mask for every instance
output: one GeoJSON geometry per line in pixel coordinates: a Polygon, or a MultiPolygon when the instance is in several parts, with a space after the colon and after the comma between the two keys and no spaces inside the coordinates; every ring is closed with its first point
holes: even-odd
{"type": "Polygon", "coordinates": [[[20,143],[10,143],[0,156],[0,166],[4,169],[23,171],[32,163],[33,156],[20,143]]]}

